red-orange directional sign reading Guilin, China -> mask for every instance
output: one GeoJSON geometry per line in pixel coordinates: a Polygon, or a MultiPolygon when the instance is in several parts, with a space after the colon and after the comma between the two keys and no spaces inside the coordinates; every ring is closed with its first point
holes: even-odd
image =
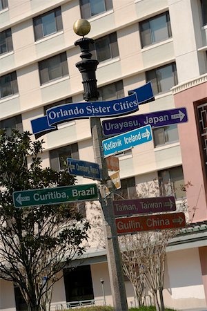
{"type": "Polygon", "coordinates": [[[156,229],[170,229],[185,227],[184,213],[157,214],[139,217],[117,218],[117,234],[150,231],[156,229]]]}

